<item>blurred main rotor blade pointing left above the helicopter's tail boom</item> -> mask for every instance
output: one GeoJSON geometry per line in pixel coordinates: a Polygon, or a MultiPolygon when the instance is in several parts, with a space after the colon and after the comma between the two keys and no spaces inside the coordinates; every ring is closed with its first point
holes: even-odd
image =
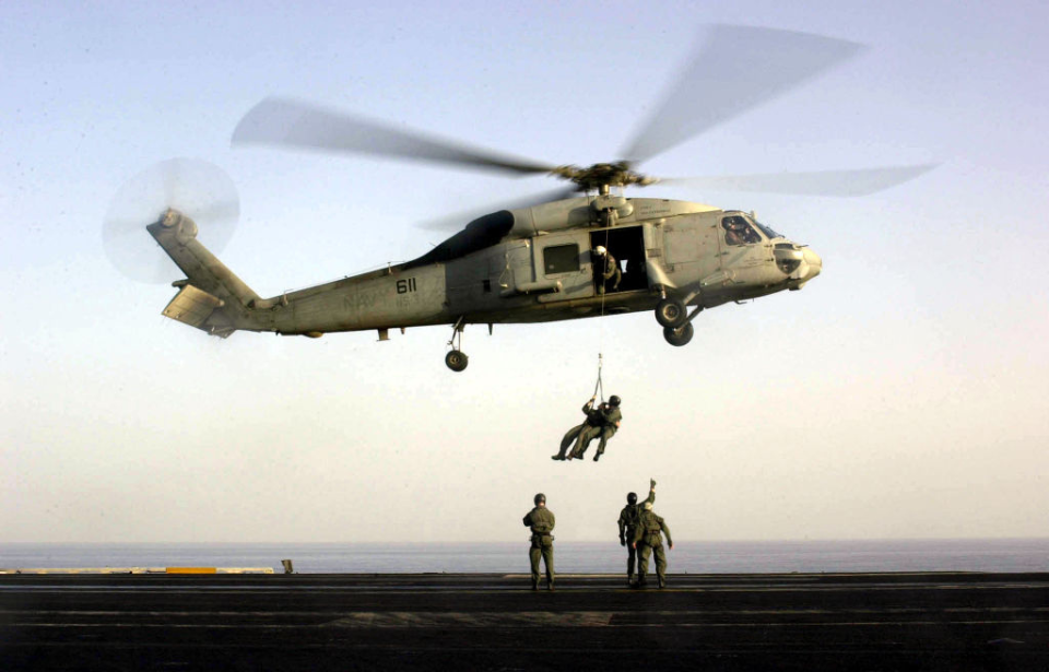
{"type": "Polygon", "coordinates": [[[252,107],[233,131],[233,144],[360,152],[522,174],[549,173],[554,167],[281,97],[252,107]]]}

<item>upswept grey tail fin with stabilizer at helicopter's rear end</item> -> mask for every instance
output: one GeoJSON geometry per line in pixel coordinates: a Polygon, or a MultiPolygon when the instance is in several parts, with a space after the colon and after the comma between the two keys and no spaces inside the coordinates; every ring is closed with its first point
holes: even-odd
{"type": "Polygon", "coordinates": [[[176,210],[145,227],[187,280],[163,315],[222,338],[247,327],[258,294],[197,240],[197,224],[176,210]]]}

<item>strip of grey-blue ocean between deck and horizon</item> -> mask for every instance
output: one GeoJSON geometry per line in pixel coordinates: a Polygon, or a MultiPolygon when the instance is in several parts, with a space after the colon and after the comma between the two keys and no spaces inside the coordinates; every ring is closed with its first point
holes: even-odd
{"type": "MultiPolygon", "coordinates": [[[[625,571],[617,541],[555,542],[566,574],[625,571]]],[[[528,543],[0,543],[0,569],[272,567],[304,574],[527,573],[528,543]]],[[[671,574],[1049,571],[1049,539],[682,541],[671,574]]]]}

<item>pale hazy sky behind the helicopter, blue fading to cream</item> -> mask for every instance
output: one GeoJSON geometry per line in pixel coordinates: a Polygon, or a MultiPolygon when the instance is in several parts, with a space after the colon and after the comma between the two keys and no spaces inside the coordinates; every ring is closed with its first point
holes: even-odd
{"type": "Polygon", "coordinates": [[[649,476],[683,540],[1049,534],[1045,2],[211,5],[0,4],[0,541],[523,541],[539,491],[558,539],[614,540],[649,476]],[[441,234],[414,223],[554,182],[232,150],[240,117],[282,94],[609,161],[710,23],[870,49],[649,172],[942,165],[857,199],[633,192],[823,257],[686,347],[647,313],[469,328],[463,374],[446,328],[222,341],[103,251],[121,185],[191,156],[237,185],[221,257],[263,296],[419,256],[441,234]],[[552,462],[599,351],[623,428],[552,462]]]}

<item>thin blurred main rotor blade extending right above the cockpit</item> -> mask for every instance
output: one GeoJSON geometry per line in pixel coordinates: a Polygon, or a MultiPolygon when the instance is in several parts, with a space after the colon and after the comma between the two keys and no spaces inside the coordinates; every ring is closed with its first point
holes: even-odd
{"type": "Polygon", "coordinates": [[[764,191],[805,196],[868,196],[901,185],[932,170],[939,164],[886,166],[859,170],[767,173],[661,179],[661,185],[683,185],[711,191],[764,191]]]}

